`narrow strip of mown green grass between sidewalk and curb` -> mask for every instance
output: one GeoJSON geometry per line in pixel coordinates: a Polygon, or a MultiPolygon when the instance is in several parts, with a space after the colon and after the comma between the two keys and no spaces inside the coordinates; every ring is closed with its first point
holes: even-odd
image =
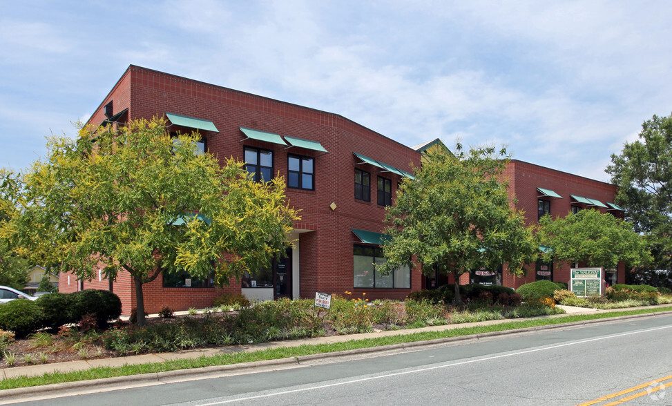
{"type": "Polygon", "coordinates": [[[122,367],[96,367],[92,369],[87,369],[86,371],[75,371],[75,372],[51,372],[48,374],[44,374],[42,376],[31,376],[31,377],[20,376],[17,378],[8,378],[5,380],[0,380],[0,390],[13,389],[19,387],[34,387],[54,383],[77,382],[81,380],[112,378],[115,376],[152,374],[164,371],[176,371],[180,369],[211,367],[213,365],[233,365],[240,363],[250,363],[261,360],[278,360],[282,358],[291,358],[311,354],[324,354],[329,352],[345,351],[348,349],[381,347],[383,345],[434,340],[436,338],[470,336],[474,334],[485,334],[494,331],[508,331],[516,329],[525,329],[529,327],[559,325],[568,322],[598,320],[603,318],[631,316],[645,313],[657,313],[662,311],[672,311],[672,307],[662,307],[656,309],[638,309],[628,311],[612,311],[608,313],[562,316],[558,318],[534,318],[527,320],[502,322],[501,324],[488,325],[488,326],[472,326],[461,328],[458,327],[454,329],[446,329],[443,331],[423,331],[419,333],[402,334],[399,336],[366,338],[363,340],[350,340],[346,342],[337,342],[332,344],[300,345],[298,347],[273,348],[253,352],[237,352],[233,354],[222,354],[218,356],[202,356],[200,358],[186,359],[186,360],[169,360],[163,363],[124,365],[122,367]]]}

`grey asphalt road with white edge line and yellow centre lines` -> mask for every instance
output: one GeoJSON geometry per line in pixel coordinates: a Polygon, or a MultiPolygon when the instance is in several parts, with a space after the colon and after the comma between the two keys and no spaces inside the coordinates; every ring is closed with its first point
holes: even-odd
{"type": "Polygon", "coordinates": [[[25,404],[672,405],[671,345],[672,316],[657,316],[25,404]]]}

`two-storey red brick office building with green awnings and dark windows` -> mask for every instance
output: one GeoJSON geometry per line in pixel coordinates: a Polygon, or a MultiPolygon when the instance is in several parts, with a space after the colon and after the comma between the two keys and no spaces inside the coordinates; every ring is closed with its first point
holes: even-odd
{"type": "MultiPolygon", "coordinates": [[[[139,66],[128,67],[87,124],[114,125],[155,116],[166,117],[171,132],[198,130],[202,151],[222,161],[233,156],[247,162],[247,170],[257,178],[280,173],[287,180],[289,203],[300,209],[301,219],[290,235],[294,248],[273,269],[253,271],[225,288],[186,273],[159,276],[144,285],[148,313],[165,306],[173,310],[209,307],[223,291],[262,300],[313,298],[316,291],[403,299],[411,291],[432,287],[432,280],[418,269],[381,276],[372,264],[383,260],[380,239],[385,206],[392,204],[399,182],[412,177],[412,168],[421,165],[421,153],[436,142],[410,148],[337,114],[139,66]]],[[[525,162],[511,162],[507,175],[510,193],[519,199],[517,208],[528,213],[530,222],[537,220],[542,200],[550,202],[555,216],[588,206],[571,195],[613,202],[615,194],[609,184],[525,162]]],[[[514,280],[506,270],[503,274],[499,270],[497,282],[517,287],[535,280],[535,275],[528,272],[524,280],[514,280]]],[[[568,271],[557,269],[550,276],[566,282],[568,271]]],[[[618,278],[624,280],[620,273],[618,278]]],[[[135,307],[128,273],[119,274],[114,282],[102,275],[77,281],[74,275],[61,273],[61,292],[80,289],[111,289],[122,299],[124,315],[135,307]]]]}

